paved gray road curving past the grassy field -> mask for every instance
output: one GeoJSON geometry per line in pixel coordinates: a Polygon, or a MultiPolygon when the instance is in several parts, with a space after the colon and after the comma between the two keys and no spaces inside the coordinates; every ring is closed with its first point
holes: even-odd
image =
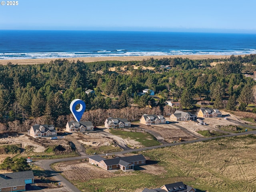
{"type": "MultiPolygon", "coordinates": [[[[243,124],[243,126],[244,126],[244,124],[243,124]]],[[[252,127],[254,127],[254,126],[252,126],[252,127]]],[[[254,128],[256,129],[256,127],[254,127],[254,128]]],[[[115,152],[114,154],[126,154],[126,153],[130,153],[130,152],[139,152],[139,151],[144,151],[144,150],[152,150],[152,149],[156,149],[156,148],[170,147],[170,146],[176,146],[176,145],[180,145],[180,144],[202,142],[202,141],[207,141],[207,140],[216,139],[216,138],[233,137],[233,136],[240,136],[240,135],[247,135],[247,134],[256,134],[256,130],[242,132],[242,133],[236,133],[236,134],[217,136],[217,137],[212,137],[212,138],[199,138],[197,140],[184,141],[184,142],[178,142],[178,143],[169,143],[169,144],[164,144],[164,145],[160,145],[160,146],[152,146],[152,147],[139,148],[139,149],[130,149],[130,150],[125,150],[125,151],[115,152]]],[[[112,155],[113,153],[108,153],[108,154],[112,155]]],[[[105,155],[106,154],[99,154],[99,156],[105,156],[105,155]]],[[[59,181],[61,183],[61,185],[64,186],[64,190],[66,190],[67,192],[80,192],[80,190],[78,190],[68,180],[66,180],[64,177],[62,177],[59,172],[52,170],[52,168],[50,167],[50,164],[60,162],[60,161],[84,159],[84,158],[88,158],[90,156],[91,155],[63,158],[63,159],[39,160],[37,162],[34,162],[34,164],[42,167],[46,171],[49,171],[51,173],[51,176],[53,176],[56,181],[59,181]]],[[[44,191],[44,190],[41,190],[41,191],[44,191]]]]}

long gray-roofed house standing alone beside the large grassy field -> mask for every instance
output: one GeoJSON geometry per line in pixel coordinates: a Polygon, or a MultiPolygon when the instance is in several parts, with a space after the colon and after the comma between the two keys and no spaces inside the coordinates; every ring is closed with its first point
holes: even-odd
{"type": "Polygon", "coordinates": [[[121,169],[126,171],[127,169],[134,169],[134,166],[145,165],[146,159],[143,155],[134,155],[127,157],[118,157],[112,159],[105,159],[98,155],[89,157],[89,162],[95,164],[102,169],[112,170],[112,169],[121,169]]]}

